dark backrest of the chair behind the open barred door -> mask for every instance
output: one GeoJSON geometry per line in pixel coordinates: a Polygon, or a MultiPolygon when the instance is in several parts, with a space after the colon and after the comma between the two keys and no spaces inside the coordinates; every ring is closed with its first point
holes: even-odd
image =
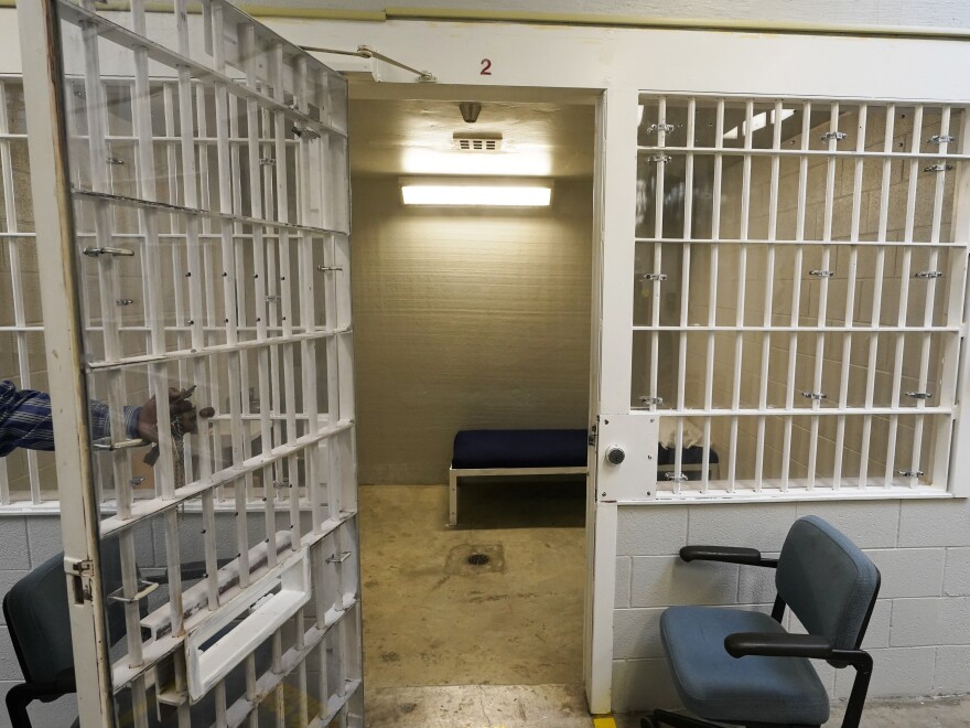
{"type": "MultiPolygon", "coordinates": [[[[121,586],[117,538],[101,542],[101,569],[106,592],[121,586]]],[[[125,634],[125,612],[120,602],[108,604],[107,612],[114,644],[125,634]]],[[[52,556],[11,587],[3,598],[3,615],[28,683],[53,683],[74,666],[64,554],[52,556]]]]}

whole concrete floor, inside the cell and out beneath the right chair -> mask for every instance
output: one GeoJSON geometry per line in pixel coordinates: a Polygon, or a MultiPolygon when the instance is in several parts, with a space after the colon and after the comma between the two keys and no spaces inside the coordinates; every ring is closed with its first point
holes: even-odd
{"type": "MultiPolygon", "coordinates": [[[[593,725],[581,684],[582,499],[508,488],[468,489],[460,529],[445,527],[446,486],[360,488],[367,728],[593,725]],[[489,564],[470,566],[473,553],[489,564]]],[[[842,711],[833,706],[828,728],[842,711]]],[[[640,715],[614,716],[616,727],[639,728],[640,715]]],[[[961,726],[970,699],[870,702],[862,720],[961,726]]]]}

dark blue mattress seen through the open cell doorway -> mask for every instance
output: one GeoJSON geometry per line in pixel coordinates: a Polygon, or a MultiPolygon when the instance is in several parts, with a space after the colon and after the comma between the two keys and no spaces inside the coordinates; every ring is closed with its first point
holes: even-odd
{"type": "Polygon", "coordinates": [[[451,467],[582,468],[586,430],[462,430],[455,435],[451,467]]]}

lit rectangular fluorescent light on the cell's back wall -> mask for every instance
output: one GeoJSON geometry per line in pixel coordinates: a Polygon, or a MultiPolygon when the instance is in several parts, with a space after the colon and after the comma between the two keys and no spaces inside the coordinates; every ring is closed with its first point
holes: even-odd
{"type": "Polygon", "coordinates": [[[406,205],[464,207],[545,207],[552,180],[529,178],[401,178],[406,205]]]}

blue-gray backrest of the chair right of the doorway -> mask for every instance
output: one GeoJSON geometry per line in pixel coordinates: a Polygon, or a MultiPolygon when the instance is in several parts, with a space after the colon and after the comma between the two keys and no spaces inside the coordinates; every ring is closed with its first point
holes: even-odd
{"type": "Polygon", "coordinates": [[[880,588],[870,558],[818,516],[795,522],[775,575],[778,596],[810,634],[838,650],[860,646],[880,588]]]}

